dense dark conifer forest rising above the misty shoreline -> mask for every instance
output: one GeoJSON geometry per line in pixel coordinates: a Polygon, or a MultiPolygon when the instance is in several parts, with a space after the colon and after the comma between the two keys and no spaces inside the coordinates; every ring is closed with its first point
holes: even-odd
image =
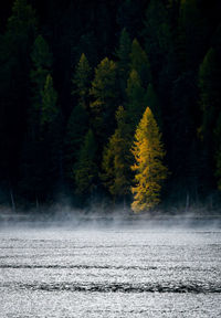
{"type": "Polygon", "coordinates": [[[220,205],[221,1],[1,7],[0,204],[220,205]]]}

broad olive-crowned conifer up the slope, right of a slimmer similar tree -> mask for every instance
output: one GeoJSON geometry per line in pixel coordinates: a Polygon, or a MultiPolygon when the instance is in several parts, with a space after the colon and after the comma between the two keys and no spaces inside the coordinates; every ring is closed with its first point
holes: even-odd
{"type": "Polygon", "coordinates": [[[91,103],[92,126],[102,144],[107,141],[115,127],[114,114],[118,99],[116,93],[116,64],[105,57],[95,70],[91,88],[91,95],[94,99],[91,103]]]}

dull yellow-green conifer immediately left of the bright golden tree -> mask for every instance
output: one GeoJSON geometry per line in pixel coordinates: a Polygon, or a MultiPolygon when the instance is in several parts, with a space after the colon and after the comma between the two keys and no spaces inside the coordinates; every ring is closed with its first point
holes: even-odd
{"type": "Polygon", "coordinates": [[[126,112],[119,106],[116,112],[117,128],[109,138],[103,153],[102,179],[109,193],[115,198],[126,198],[130,192],[130,162],[129,152],[131,142],[126,112]]]}

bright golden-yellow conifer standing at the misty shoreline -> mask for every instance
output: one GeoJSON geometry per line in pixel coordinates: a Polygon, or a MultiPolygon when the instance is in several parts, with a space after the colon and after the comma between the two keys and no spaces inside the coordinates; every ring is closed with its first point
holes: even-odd
{"type": "Polygon", "coordinates": [[[131,166],[135,171],[131,209],[135,212],[147,211],[160,202],[161,184],[168,174],[162,163],[166,152],[161,134],[149,107],[136,129],[131,152],[135,157],[135,165],[131,166]]]}

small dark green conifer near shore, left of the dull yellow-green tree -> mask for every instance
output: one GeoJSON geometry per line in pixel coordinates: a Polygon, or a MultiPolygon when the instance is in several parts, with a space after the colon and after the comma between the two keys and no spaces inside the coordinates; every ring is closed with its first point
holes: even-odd
{"type": "Polygon", "coordinates": [[[96,189],[98,169],[96,166],[97,145],[90,129],[82,145],[75,170],[75,188],[80,195],[92,195],[96,189]]]}

